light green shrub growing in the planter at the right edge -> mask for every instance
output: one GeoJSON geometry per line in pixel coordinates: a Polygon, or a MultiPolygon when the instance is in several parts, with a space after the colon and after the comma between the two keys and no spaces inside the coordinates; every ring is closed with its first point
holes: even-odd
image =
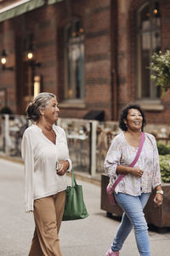
{"type": "Polygon", "coordinates": [[[160,155],[161,180],[170,183],[170,154],[160,155]]]}

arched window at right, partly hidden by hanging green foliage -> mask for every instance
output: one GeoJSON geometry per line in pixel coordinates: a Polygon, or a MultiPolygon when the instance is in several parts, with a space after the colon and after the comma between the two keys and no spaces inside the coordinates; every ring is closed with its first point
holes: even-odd
{"type": "Polygon", "coordinates": [[[159,3],[147,1],[138,11],[138,98],[154,100],[160,89],[150,80],[150,57],[161,49],[159,3]]]}

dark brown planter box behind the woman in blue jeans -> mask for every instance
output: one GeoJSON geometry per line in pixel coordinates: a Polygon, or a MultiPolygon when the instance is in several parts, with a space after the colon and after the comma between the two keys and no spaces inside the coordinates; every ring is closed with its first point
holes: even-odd
{"type": "MultiPolygon", "coordinates": [[[[106,194],[106,187],[109,183],[109,177],[105,174],[101,176],[101,209],[107,212],[107,215],[122,216],[122,209],[118,205],[113,206],[106,194]]],[[[162,189],[164,191],[164,200],[161,207],[154,207],[153,198],[155,191],[150,195],[150,199],[144,208],[144,215],[148,224],[156,228],[169,228],[170,227],[170,183],[163,183],[162,189]]]]}

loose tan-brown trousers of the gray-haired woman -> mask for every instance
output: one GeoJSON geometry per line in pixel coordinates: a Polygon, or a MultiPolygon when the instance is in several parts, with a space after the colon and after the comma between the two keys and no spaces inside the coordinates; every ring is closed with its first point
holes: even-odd
{"type": "Polygon", "coordinates": [[[65,208],[65,191],[34,201],[36,224],[29,256],[62,256],[59,228],[65,208]]]}

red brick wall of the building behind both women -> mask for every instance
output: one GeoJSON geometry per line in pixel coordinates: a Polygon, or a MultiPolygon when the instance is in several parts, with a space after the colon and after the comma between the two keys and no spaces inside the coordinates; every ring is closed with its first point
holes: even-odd
{"type": "MultiPolygon", "coordinates": [[[[16,73],[0,71],[0,88],[8,89],[8,106],[15,113],[22,111],[19,103],[23,95],[22,42],[29,32],[34,33],[36,61],[42,64],[41,67],[36,68],[36,73],[42,76],[42,91],[57,94],[59,102],[62,103],[65,87],[64,27],[70,20],[69,15],[79,16],[85,31],[84,107],[61,108],[60,116],[82,118],[88,111],[97,109],[105,110],[105,120],[112,118],[113,59],[111,58],[117,60],[115,61],[118,86],[117,112],[128,102],[135,102],[137,73],[135,13],[144,2],[144,0],[71,0],[71,9],[69,9],[63,1],[1,22],[0,49],[5,45],[10,57],[8,59],[11,61],[10,66],[16,69],[16,73]],[[111,8],[116,9],[116,3],[117,20],[116,16],[111,17],[111,8]],[[114,35],[111,34],[111,27],[115,29],[114,35]],[[112,39],[116,42],[114,47],[112,39]]],[[[161,46],[162,49],[167,49],[170,44],[168,36],[170,3],[162,0],[160,4],[161,46]]],[[[146,117],[150,123],[170,124],[170,96],[164,96],[161,102],[165,110],[147,111],[146,117]]]]}

